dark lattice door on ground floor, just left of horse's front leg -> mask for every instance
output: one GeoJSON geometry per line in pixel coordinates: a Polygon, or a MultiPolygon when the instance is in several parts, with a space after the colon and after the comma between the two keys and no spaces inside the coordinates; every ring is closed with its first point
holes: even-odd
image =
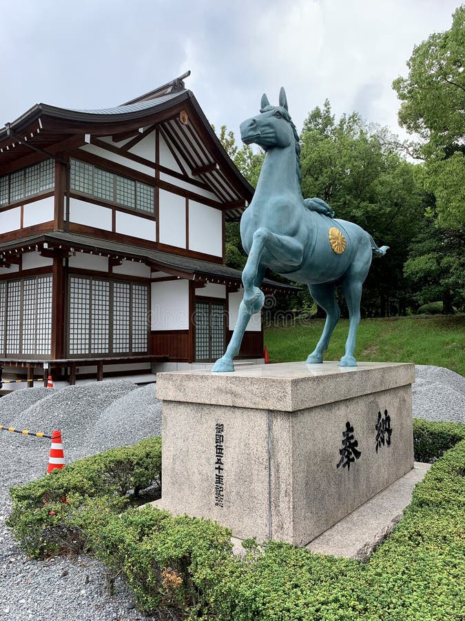
{"type": "Polygon", "coordinates": [[[210,362],[225,353],[225,305],[196,301],[196,360],[210,362]]]}

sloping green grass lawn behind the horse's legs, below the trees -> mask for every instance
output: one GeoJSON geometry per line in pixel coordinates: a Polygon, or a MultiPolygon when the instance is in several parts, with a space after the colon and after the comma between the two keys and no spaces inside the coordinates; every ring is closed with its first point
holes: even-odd
{"type": "MultiPolygon", "coordinates": [[[[324,319],[295,326],[265,328],[271,362],[305,360],[322,333],[324,319]]],[[[349,320],[335,327],[325,360],[339,360],[349,320]]],[[[446,317],[389,317],[362,319],[355,357],[360,362],[414,362],[445,366],[465,375],[465,315],[446,317]]]]}

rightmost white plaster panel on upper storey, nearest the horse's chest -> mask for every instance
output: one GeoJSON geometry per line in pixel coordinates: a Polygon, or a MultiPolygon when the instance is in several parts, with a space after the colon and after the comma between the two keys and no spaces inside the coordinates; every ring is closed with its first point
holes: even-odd
{"type": "Polygon", "coordinates": [[[220,210],[189,200],[189,250],[223,256],[223,215],[220,210]]]}

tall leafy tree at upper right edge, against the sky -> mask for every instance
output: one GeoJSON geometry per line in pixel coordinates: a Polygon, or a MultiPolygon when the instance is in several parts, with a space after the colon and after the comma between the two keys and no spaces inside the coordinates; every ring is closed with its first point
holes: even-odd
{"type": "Polygon", "coordinates": [[[413,48],[409,75],[393,81],[401,103],[399,122],[421,142],[422,183],[435,195],[437,225],[465,223],[465,6],[450,30],[413,48]]]}

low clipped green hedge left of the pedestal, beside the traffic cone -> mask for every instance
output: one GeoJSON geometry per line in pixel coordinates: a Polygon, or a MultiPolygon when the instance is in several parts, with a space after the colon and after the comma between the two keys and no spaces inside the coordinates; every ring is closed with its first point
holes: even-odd
{"type": "Polygon", "coordinates": [[[141,490],[161,489],[161,438],[78,460],[13,487],[7,524],[31,558],[87,549],[89,538],[141,490]]]}

